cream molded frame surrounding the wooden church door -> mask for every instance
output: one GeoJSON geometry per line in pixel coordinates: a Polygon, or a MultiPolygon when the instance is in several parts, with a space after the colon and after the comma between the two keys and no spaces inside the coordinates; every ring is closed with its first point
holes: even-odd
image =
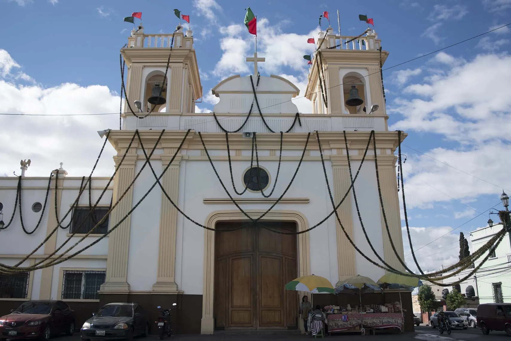
{"type": "MultiPolygon", "coordinates": [[[[245,210],[251,218],[258,218],[265,210],[245,210]]],[[[218,221],[245,220],[246,216],[239,210],[219,210],[207,216],[205,224],[208,228],[215,228],[218,221]]],[[[272,210],[268,212],[262,221],[294,221],[298,232],[309,228],[309,222],[305,215],[293,210],[272,210]]],[[[299,276],[310,274],[310,241],[309,234],[298,235],[297,261],[299,276]]],[[[202,320],[201,334],[213,334],[213,305],[215,283],[215,231],[204,230],[204,264],[203,264],[203,289],[202,289],[202,320]]],[[[299,324],[298,324],[299,327],[299,324]]]]}

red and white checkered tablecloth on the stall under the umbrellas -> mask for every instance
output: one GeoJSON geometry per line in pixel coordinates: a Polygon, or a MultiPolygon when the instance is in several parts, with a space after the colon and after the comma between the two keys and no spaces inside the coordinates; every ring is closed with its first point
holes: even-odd
{"type": "Polygon", "coordinates": [[[362,326],[364,328],[398,328],[403,330],[404,321],[401,313],[350,313],[350,314],[329,314],[328,331],[344,331],[354,327],[362,326]],[[342,320],[342,315],[347,316],[347,321],[342,320]]]}

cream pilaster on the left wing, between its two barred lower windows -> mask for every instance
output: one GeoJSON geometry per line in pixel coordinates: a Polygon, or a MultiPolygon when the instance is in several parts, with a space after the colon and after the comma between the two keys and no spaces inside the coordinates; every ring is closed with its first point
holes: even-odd
{"type": "MultiPolygon", "coordinates": [[[[62,200],[62,187],[64,186],[64,178],[67,175],[67,172],[62,168],[62,163],[60,164],[60,168],[54,170],[52,172],[53,179],[51,181],[51,190],[48,200],[48,224],[46,226],[46,235],[50,235],[52,231],[56,228],[58,222],[57,217],[55,216],[55,196],[57,196],[57,212],[60,216],[60,203],[62,200]],[[55,191],[55,181],[56,175],[58,173],[58,183],[57,183],[57,191],[55,191]]],[[[71,215],[68,215],[70,217],[71,215]]],[[[71,219],[71,218],[69,218],[71,219]]],[[[57,246],[57,233],[60,228],[55,231],[55,233],[48,239],[46,243],[44,243],[44,254],[49,255],[55,251],[57,246]]],[[[39,288],[39,299],[40,300],[50,300],[52,299],[52,276],[53,276],[53,266],[45,267],[41,270],[41,286],[39,288]]],[[[60,300],[61,298],[55,298],[56,300],[60,300]]]]}

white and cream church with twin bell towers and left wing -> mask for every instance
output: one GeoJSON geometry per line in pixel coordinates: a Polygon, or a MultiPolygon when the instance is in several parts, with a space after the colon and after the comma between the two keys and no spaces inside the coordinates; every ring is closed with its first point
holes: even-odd
{"type": "MultiPolygon", "coordinates": [[[[51,179],[0,177],[7,226],[0,231],[0,263],[14,265],[27,258],[21,266],[30,266],[52,254],[49,260],[63,255],[82,238],[66,255],[101,240],[62,263],[0,275],[0,313],[26,300],[62,299],[83,321],[108,302],[139,303],[155,317],[157,306],[177,302],[176,328],[181,333],[303,328],[298,323],[303,293],[284,290],[288,281],[315,274],[335,285],[340,276],[360,274],[376,281],[385,274],[357,253],[343,232],[380,263],[362,231],[357,204],[375,250],[404,270],[387,235],[373,143],[368,144],[374,131],[386,220],[404,258],[394,155],[398,132],[388,131],[380,78],[380,62],[388,53],[380,51],[374,31],[347,44],[353,37],[331,30],[325,39],[323,32],[319,35],[322,69],[318,74],[316,54],[305,94],[287,79],[254,70],[252,76],[222,80],[212,89],[219,98],[214,113],[196,113],[195,101],[203,89],[192,32],[180,28],[173,39],[172,34],[145,34],[142,27],[133,32],[121,50],[127,65],[128,113],[122,130],[104,132],[117,151],[114,163],[119,169],[113,181],[92,177],[90,187],[84,186],[88,174],[84,179],[66,176],[65,164],[51,179]],[[150,99],[156,83],[165,103],[150,99]],[[363,104],[345,104],[352,87],[363,104]],[[298,112],[292,102],[300,95],[311,101],[310,112],[298,112]],[[152,152],[150,165],[142,145],[147,154],[152,152]],[[356,203],[349,191],[347,153],[355,176],[368,145],[354,185],[356,203]],[[158,184],[156,178],[165,169],[158,184]],[[342,226],[331,214],[329,188],[335,204],[348,193],[337,210],[342,226]],[[89,190],[92,206],[97,203],[90,215],[89,190]],[[21,207],[7,225],[19,193],[21,207]],[[104,222],[86,235],[121,197],[104,222]]],[[[257,67],[261,58],[252,59],[257,67]]],[[[410,293],[403,300],[411,312],[410,293]]]]}

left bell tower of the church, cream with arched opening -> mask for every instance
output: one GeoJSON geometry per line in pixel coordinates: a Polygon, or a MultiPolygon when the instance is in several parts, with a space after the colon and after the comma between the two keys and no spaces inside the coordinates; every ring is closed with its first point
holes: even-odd
{"type": "MultiPolygon", "coordinates": [[[[145,116],[149,111],[160,115],[195,112],[195,101],[202,97],[202,85],[193,43],[192,31],[183,33],[182,26],[171,34],[144,34],[142,25],[133,29],[121,54],[128,69],[127,100],[137,116],[145,116]]],[[[126,103],[125,118],[133,117],[129,111],[126,103]]],[[[126,127],[126,120],[124,125],[123,129],[135,128],[129,122],[126,127]]]]}

